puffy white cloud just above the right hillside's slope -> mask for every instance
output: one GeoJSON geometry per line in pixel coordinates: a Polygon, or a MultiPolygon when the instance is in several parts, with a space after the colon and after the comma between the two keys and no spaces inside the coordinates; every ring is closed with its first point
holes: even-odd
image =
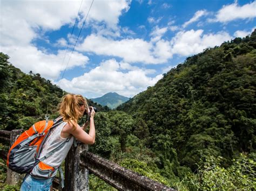
{"type": "Polygon", "coordinates": [[[224,41],[231,40],[226,32],[216,34],[203,34],[203,30],[180,31],[171,40],[172,54],[188,56],[197,54],[205,48],[221,45],[224,41]]]}

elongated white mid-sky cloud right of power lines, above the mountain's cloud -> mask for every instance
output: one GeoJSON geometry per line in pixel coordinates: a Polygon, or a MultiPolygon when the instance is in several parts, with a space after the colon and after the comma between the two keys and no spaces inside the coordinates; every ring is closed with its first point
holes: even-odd
{"type": "Polygon", "coordinates": [[[167,60],[155,58],[152,43],[142,39],[113,40],[91,34],[76,47],[78,51],[93,52],[98,55],[118,56],[126,62],[161,63],[167,60]]]}

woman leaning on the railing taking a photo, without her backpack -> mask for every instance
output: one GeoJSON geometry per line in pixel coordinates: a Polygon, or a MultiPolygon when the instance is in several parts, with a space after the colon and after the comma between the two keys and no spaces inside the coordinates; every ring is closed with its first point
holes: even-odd
{"type": "Polygon", "coordinates": [[[58,167],[68,154],[74,137],[88,145],[95,143],[95,124],[93,121],[95,111],[93,107],[90,109],[82,95],[67,94],[62,97],[59,104],[60,117],[56,120],[63,118],[63,123],[50,131],[39,158],[54,150],[53,154],[39,162],[32,172],[25,176],[21,190],[50,190],[52,180],[57,174],[58,167]],[[89,134],[84,131],[88,123],[83,126],[77,124],[84,112],[90,112],[89,134]]]}

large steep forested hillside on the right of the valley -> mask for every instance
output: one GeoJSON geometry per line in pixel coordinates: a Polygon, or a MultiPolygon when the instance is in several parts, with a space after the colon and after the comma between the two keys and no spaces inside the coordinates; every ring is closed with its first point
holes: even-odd
{"type": "Polygon", "coordinates": [[[255,151],[255,48],[255,30],[208,48],[117,108],[144,123],[160,168],[173,150],[192,171],[207,156],[222,156],[227,166],[238,153],[255,151]]]}

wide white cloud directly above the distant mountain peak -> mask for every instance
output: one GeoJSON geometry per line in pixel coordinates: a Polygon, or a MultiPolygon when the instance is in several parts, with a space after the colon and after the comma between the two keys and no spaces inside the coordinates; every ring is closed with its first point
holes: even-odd
{"type": "Polygon", "coordinates": [[[83,94],[89,98],[102,96],[111,91],[132,97],[146,90],[148,86],[153,86],[162,77],[162,75],[149,77],[148,72],[133,68],[129,63],[119,63],[111,59],[71,81],[62,79],[58,85],[66,91],[83,94]],[[124,68],[128,71],[122,72],[124,68]]]}

